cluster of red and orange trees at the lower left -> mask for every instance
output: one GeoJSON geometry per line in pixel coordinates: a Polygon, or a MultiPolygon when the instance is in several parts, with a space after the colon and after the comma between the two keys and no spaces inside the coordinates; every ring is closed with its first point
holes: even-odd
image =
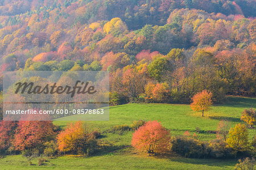
{"type": "Polygon", "coordinates": [[[24,156],[54,156],[64,154],[90,155],[97,149],[97,131],[89,131],[81,121],[69,124],[64,130],[51,121],[1,121],[0,154],[24,156]]]}

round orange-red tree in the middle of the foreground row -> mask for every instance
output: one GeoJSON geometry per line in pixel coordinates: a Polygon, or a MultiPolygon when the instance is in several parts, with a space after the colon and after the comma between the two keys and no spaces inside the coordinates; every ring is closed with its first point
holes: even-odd
{"type": "Polygon", "coordinates": [[[131,145],[148,154],[167,152],[170,146],[170,132],[160,122],[148,121],[135,131],[131,145]]]}

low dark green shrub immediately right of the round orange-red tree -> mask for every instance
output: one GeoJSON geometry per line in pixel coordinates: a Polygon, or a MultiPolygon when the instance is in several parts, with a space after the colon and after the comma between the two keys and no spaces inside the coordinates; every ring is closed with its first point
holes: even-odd
{"type": "Polygon", "coordinates": [[[172,151],[187,158],[205,158],[209,153],[207,143],[189,137],[174,137],[171,146],[172,151]]]}

